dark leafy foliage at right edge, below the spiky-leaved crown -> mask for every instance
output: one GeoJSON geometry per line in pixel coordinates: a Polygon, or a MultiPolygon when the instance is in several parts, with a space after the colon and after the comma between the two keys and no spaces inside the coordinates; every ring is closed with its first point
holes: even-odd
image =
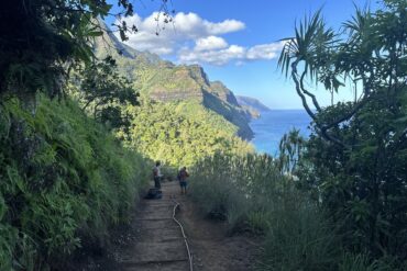
{"type": "MultiPolygon", "coordinates": [[[[392,112],[384,95],[336,131],[339,138],[355,145],[352,151],[312,135],[306,153],[312,172],[305,169],[302,176],[307,185],[318,189],[343,230],[352,233],[348,244],[374,255],[397,253],[406,244],[407,145],[403,120],[407,112],[404,106],[392,112]]],[[[327,109],[326,115],[337,115],[339,110],[327,109]]]]}

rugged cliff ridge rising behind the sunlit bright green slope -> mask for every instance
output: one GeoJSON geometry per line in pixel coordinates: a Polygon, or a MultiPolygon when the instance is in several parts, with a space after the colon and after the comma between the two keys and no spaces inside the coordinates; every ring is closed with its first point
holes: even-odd
{"type": "MultiPolygon", "coordinates": [[[[106,25],[103,27],[108,30],[106,25]]],[[[217,116],[208,114],[207,117],[222,117],[237,126],[238,136],[244,139],[253,137],[249,126],[251,115],[239,105],[233,92],[223,83],[209,81],[200,66],[174,65],[157,55],[138,52],[109,32],[97,39],[95,50],[98,57],[112,55],[142,97],[166,103],[191,102],[198,111],[201,110],[198,108],[205,108],[217,113],[217,116]]]]}

